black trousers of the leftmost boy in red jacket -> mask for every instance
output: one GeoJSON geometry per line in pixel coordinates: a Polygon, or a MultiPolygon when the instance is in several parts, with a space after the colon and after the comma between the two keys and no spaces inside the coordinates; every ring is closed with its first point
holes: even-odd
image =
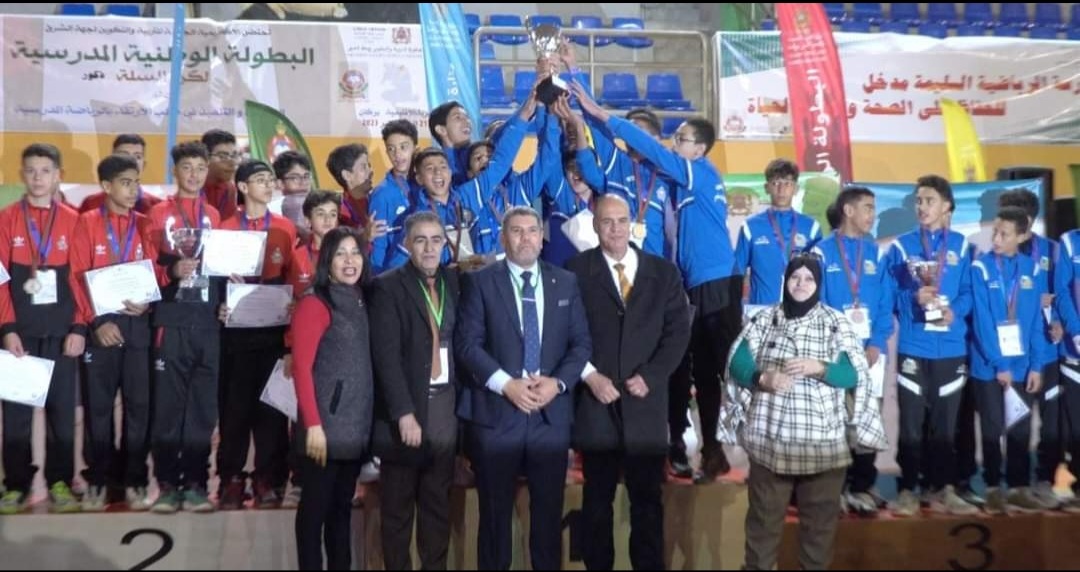
{"type": "MultiPolygon", "coordinates": [[[[64,338],[23,338],[23,349],[56,363],[45,396],[45,481],[75,477],[76,358],[64,357],[64,338]]],[[[0,373],[2,374],[2,373],[0,373]]],[[[8,490],[29,492],[33,484],[33,408],[3,403],[3,471],[8,490]]]]}

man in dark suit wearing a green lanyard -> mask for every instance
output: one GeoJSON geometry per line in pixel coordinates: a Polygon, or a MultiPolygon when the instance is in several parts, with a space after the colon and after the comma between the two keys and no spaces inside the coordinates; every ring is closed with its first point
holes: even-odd
{"type": "Polygon", "coordinates": [[[450,485],[457,447],[454,348],[458,275],[440,267],[446,232],[438,216],[405,220],[409,263],[375,281],[374,452],[381,461],[382,555],[387,570],[413,570],[418,516],[422,570],[446,570],[450,485]]]}

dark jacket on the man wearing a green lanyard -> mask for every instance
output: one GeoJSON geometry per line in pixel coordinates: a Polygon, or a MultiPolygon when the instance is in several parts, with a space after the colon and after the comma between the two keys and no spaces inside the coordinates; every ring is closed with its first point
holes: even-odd
{"type": "MultiPolygon", "coordinates": [[[[446,303],[459,308],[458,274],[440,269],[446,281],[446,303]]],[[[374,454],[405,465],[419,465],[428,455],[428,395],[431,385],[431,324],[428,303],[420,290],[420,273],[405,265],[380,275],[370,288],[372,355],[375,363],[374,454]],[[413,413],[424,432],[419,449],[402,442],[397,420],[413,413]]],[[[447,311],[451,305],[447,305],[447,311]]],[[[449,312],[443,319],[453,317],[449,312]]],[[[449,344],[451,391],[457,391],[454,374],[451,333],[442,337],[449,344]]]]}

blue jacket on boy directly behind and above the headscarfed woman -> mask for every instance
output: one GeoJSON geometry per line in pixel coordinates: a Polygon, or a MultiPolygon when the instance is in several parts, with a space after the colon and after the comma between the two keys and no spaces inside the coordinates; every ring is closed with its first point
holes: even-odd
{"type": "Polygon", "coordinates": [[[746,219],[735,245],[735,273],[750,270],[750,303],[780,303],[792,253],[809,250],[820,240],[818,221],[794,209],[769,208],[746,219]]]}

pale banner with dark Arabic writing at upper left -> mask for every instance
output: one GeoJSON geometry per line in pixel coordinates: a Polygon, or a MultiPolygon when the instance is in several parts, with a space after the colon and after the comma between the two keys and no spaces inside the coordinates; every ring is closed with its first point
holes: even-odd
{"type": "MultiPolygon", "coordinates": [[[[0,130],[164,134],[172,21],[0,16],[0,130]]],[[[180,132],[245,131],[244,101],[308,136],[378,137],[427,126],[417,25],[189,21],[180,132]]]]}

